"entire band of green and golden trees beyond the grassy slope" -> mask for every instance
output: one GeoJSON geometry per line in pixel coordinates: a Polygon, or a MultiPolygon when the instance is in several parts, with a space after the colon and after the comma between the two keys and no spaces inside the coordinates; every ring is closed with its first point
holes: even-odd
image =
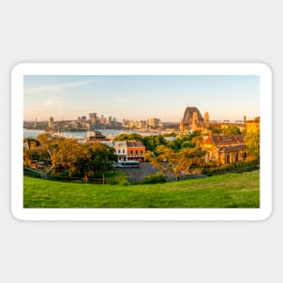
{"type": "MultiPolygon", "coordinates": [[[[146,146],[145,160],[156,166],[164,176],[175,176],[177,181],[181,175],[214,174],[216,168],[217,172],[223,169],[222,165],[204,163],[206,152],[200,131],[174,139],[162,135],[142,137],[136,133],[121,134],[115,140],[141,141],[146,146]]],[[[94,175],[114,171],[113,166],[118,161],[115,149],[101,143],[80,144],[75,139],[52,137],[48,133],[36,139],[25,138],[24,142],[24,166],[42,169],[46,175],[80,176],[86,181],[94,175]]],[[[247,162],[251,161],[259,167],[259,131],[247,134],[245,142],[249,157],[247,162]]],[[[247,162],[232,166],[246,168],[249,165],[247,162]]],[[[156,177],[160,179],[160,175],[156,177]]]]}

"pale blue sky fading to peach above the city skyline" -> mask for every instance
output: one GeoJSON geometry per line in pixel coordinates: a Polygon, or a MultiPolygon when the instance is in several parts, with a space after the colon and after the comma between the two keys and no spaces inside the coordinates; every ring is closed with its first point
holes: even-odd
{"type": "Polygon", "coordinates": [[[24,119],[112,116],[179,122],[186,107],[211,119],[259,115],[259,76],[103,75],[24,76],[24,119]]]}

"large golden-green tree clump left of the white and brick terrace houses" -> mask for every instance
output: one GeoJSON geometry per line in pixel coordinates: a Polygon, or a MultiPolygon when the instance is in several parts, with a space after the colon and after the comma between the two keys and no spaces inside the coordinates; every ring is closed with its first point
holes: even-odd
{"type": "Polygon", "coordinates": [[[42,169],[46,174],[68,174],[87,179],[113,169],[118,160],[115,149],[100,143],[80,144],[71,138],[48,133],[24,140],[24,165],[42,169]]]}

